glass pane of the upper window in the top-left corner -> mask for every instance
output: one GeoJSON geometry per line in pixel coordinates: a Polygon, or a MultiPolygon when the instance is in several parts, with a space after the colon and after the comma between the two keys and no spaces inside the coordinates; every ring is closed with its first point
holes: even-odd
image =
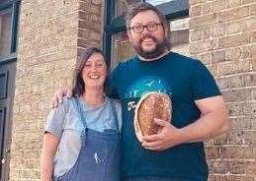
{"type": "Polygon", "coordinates": [[[11,52],[12,9],[0,12],[0,56],[11,52]]]}

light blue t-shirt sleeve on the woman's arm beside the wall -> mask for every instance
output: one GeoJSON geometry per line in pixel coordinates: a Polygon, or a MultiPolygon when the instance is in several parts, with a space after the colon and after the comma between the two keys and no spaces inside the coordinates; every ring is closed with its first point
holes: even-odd
{"type": "Polygon", "coordinates": [[[52,133],[58,138],[61,137],[66,117],[67,100],[59,104],[56,108],[52,108],[48,114],[44,133],[52,133]]]}

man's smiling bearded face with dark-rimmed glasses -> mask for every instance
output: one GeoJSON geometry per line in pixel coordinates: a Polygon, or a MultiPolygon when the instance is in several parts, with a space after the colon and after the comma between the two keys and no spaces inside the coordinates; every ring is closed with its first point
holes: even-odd
{"type": "Polygon", "coordinates": [[[141,57],[156,58],[168,49],[166,30],[155,12],[148,10],[138,13],[131,19],[129,28],[128,38],[141,57]]]}

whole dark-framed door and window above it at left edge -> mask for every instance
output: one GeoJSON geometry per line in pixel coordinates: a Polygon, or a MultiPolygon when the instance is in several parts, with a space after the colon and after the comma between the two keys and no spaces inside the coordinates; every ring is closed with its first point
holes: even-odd
{"type": "Polygon", "coordinates": [[[0,1],[0,180],[9,180],[19,0],[0,1]]]}

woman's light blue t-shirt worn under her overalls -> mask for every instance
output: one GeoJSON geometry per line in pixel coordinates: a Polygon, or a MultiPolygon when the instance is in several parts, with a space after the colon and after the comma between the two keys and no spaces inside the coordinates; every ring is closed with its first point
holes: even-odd
{"type": "MultiPolygon", "coordinates": [[[[120,128],[117,128],[114,122],[115,118],[108,97],[104,104],[100,106],[88,105],[79,98],[87,128],[99,132],[103,132],[105,129],[121,130],[121,105],[116,100],[112,101],[114,101],[117,110],[120,128]]],[[[80,136],[84,129],[75,98],[73,97],[64,97],[63,103],[49,112],[45,132],[49,132],[60,138],[58,151],[54,158],[53,175],[55,177],[63,175],[75,164],[81,149],[80,136]]]]}

